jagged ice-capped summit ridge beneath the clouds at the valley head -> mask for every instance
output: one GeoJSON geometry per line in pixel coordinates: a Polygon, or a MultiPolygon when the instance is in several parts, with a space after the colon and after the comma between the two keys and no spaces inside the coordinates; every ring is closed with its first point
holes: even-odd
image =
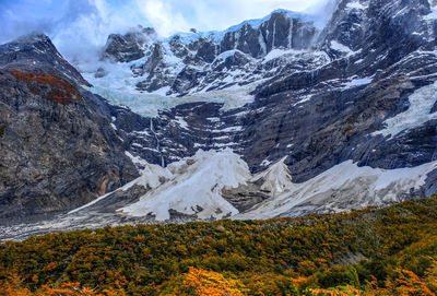
{"type": "Polygon", "coordinates": [[[103,59],[121,64],[102,63],[85,76],[107,90],[111,72],[121,70],[132,90],[167,96],[249,84],[277,73],[284,67],[280,60],[287,56],[303,56],[302,63],[314,67],[326,62],[326,55],[305,55],[317,42],[321,25],[315,16],[277,10],[223,32],[179,33],[161,39],[151,28],[113,34],[103,59]]]}

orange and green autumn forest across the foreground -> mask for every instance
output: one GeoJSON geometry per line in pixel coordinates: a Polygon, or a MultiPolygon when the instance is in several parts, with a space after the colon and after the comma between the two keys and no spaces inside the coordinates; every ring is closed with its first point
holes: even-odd
{"type": "Polygon", "coordinates": [[[0,245],[0,295],[437,295],[437,197],[0,245]]]}

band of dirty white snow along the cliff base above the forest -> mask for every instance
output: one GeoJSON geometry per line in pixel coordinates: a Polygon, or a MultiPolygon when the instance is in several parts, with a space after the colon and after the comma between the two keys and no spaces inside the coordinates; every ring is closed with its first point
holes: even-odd
{"type": "MultiPolygon", "coordinates": [[[[349,211],[411,198],[412,192],[425,185],[427,175],[437,168],[437,162],[411,168],[379,169],[358,167],[347,161],[306,182],[293,183],[284,159],[264,171],[250,175],[247,164],[229,150],[199,151],[193,157],[168,168],[131,157],[144,167],[140,178],[67,215],[42,223],[17,225],[7,233],[13,233],[15,239],[22,239],[47,232],[164,221],[172,214],[186,214],[191,220],[260,220],[349,211]],[[265,192],[274,192],[271,191],[269,199],[243,213],[238,213],[221,194],[225,187],[237,187],[238,190],[238,187],[260,179],[265,192]],[[129,194],[129,190],[138,186],[149,188],[139,201],[126,204],[115,213],[99,211],[101,202],[103,208],[108,205],[105,200],[117,203],[111,199],[113,194],[129,194]],[[351,199],[352,196],[355,198],[351,199]]],[[[178,221],[178,217],[175,218],[178,221]]]]}

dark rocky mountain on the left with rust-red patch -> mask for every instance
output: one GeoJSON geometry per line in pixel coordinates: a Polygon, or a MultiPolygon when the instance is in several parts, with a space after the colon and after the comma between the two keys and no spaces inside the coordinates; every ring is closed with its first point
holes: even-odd
{"type": "Polygon", "coordinates": [[[72,210],[138,176],[111,106],[79,86],[86,82],[46,36],[0,52],[1,224],[72,210]]]}

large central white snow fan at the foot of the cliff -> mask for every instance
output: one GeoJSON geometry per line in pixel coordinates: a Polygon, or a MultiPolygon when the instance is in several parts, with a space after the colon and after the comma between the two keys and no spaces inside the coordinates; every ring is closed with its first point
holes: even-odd
{"type": "Polygon", "coordinates": [[[238,213],[221,196],[224,187],[237,187],[250,177],[247,164],[231,150],[198,151],[193,157],[170,164],[168,181],[120,211],[130,216],[167,221],[170,213],[201,220],[223,218],[238,213]]]}

